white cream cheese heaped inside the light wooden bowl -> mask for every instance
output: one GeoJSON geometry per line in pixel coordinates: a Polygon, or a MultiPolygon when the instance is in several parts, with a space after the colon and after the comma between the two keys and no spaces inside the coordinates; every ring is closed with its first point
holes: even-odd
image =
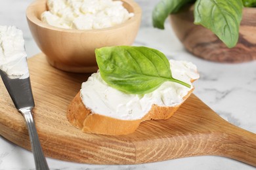
{"type": "Polygon", "coordinates": [[[112,0],[48,0],[48,11],[41,20],[66,29],[101,29],[121,24],[134,14],[121,1],[112,0]]]}

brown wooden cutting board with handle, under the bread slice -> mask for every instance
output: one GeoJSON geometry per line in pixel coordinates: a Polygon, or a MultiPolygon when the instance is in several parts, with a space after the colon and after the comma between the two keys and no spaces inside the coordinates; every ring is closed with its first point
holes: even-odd
{"type": "MultiPolygon", "coordinates": [[[[135,164],[216,155],[256,166],[256,135],[229,124],[192,94],[168,120],[150,120],[130,135],[82,133],[66,118],[89,75],[51,67],[44,54],[28,59],[34,118],[46,156],[96,164],[135,164]]],[[[0,81],[0,135],[31,150],[26,123],[0,81]]]]}

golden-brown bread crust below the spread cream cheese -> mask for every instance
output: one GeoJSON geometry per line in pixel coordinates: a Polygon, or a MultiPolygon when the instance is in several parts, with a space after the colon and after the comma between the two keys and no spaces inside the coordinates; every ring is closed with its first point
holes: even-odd
{"type": "MultiPolygon", "coordinates": [[[[194,88],[183,97],[182,103],[190,96],[193,90],[194,88]]],[[[67,118],[73,126],[86,133],[126,135],[133,133],[137,127],[139,127],[140,122],[170,118],[176,110],[179,109],[182,103],[175,107],[152,105],[150,111],[139,120],[119,120],[91,112],[91,110],[87,109],[83,104],[79,92],[68,106],[67,118]]]]}

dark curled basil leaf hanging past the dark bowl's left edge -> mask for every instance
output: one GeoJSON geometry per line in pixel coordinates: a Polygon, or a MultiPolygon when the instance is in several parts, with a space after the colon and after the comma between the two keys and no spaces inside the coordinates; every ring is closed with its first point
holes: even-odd
{"type": "Polygon", "coordinates": [[[194,0],[161,0],[152,12],[154,27],[164,29],[164,23],[169,14],[178,12],[190,2],[194,2],[194,0]]]}

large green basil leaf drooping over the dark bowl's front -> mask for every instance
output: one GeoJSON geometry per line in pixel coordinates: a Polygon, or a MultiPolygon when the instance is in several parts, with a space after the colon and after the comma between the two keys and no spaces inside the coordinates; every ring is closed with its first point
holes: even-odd
{"type": "Polygon", "coordinates": [[[232,48],[238,42],[242,8],[241,0],[197,0],[194,23],[207,27],[232,48]]]}

